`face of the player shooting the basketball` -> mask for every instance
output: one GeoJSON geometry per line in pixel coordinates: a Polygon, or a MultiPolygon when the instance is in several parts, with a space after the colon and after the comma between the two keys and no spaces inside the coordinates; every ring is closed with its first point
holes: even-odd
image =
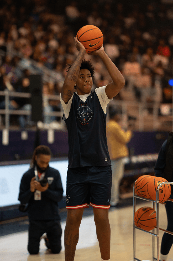
{"type": "Polygon", "coordinates": [[[78,79],[76,82],[76,90],[78,95],[83,95],[91,92],[92,77],[88,69],[79,71],[78,79]]]}

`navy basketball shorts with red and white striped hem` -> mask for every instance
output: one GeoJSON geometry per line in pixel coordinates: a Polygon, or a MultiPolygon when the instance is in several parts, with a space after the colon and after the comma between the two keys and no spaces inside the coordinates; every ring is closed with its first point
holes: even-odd
{"type": "Polygon", "coordinates": [[[66,208],[110,208],[111,166],[68,168],[66,208]]]}

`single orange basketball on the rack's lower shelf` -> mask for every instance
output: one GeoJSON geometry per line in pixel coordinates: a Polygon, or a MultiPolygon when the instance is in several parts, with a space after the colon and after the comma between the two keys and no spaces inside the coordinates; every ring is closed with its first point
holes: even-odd
{"type": "Polygon", "coordinates": [[[135,226],[144,230],[152,230],[156,227],[156,211],[151,207],[141,207],[134,215],[135,226]]]}

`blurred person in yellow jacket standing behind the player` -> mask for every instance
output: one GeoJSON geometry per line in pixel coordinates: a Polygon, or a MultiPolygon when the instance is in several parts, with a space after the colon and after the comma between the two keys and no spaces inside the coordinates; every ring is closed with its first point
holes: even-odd
{"type": "MultiPolygon", "coordinates": [[[[119,201],[119,183],[124,174],[123,158],[129,155],[127,143],[132,137],[132,131],[124,131],[118,124],[120,114],[114,108],[109,111],[110,120],[106,126],[108,150],[112,164],[111,206],[119,201]]],[[[129,127],[130,128],[130,127],[129,127]]]]}

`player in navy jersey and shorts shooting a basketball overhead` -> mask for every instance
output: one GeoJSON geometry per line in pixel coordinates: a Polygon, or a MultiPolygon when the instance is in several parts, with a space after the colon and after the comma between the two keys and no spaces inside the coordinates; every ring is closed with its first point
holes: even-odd
{"type": "Polygon", "coordinates": [[[93,207],[102,261],[110,260],[108,209],[112,171],[106,140],[106,106],[123,88],[124,78],[102,45],[90,55],[102,59],[112,82],[92,92],[94,69],[83,60],[86,50],[76,37],[75,45],[79,53],[69,66],[60,95],[69,136],[65,260],[74,260],[83,210],[89,205],[93,207]]]}

